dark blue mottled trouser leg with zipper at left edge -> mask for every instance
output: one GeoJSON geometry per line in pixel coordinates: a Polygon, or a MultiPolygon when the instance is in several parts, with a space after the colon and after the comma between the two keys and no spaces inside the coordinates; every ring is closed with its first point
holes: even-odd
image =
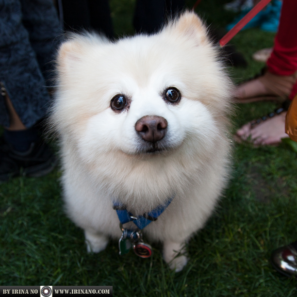
{"type": "MultiPolygon", "coordinates": [[[[32,127],[46,115],[49,94],[22,24],[18,0],[0,0],[0,82],[23,125],[32,127]]],[[[5,99],[0,99],[0,125],[9,127],[5,99]]]]}

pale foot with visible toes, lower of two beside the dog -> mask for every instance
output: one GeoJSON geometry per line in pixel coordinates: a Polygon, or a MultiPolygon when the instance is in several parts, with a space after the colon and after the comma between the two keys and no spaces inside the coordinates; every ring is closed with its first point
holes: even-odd
{"type": "Polygon", "coordinates": [[[285,132],[285,118],[286,112],[282,112],[259,124],[253,125],[251,121],[237,130],[235,139],[250,140],[255,146],[278,145],[281,143],[281,138],[289,137],[285,132]]]}

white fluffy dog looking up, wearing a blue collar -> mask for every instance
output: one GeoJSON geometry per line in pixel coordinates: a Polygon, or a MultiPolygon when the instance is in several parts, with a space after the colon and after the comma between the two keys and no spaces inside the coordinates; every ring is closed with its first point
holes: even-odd
{"type": "Polygon", "coordinates": [[[88,251],[121,237],[114,201],[137,216],[174,196],[143,234],[162,242],[165,261],[180,271],[185,243],[229,172],[231,82],[201,20],[185,12],[160,33],[116,42],[74,35],[57,70],[51,124],[61,139],[66,212],[88,251]]]}

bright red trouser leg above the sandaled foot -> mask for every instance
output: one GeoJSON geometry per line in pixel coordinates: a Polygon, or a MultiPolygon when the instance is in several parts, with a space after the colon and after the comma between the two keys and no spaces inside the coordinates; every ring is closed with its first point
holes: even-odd
{"type": "MultiPolygon", "coordinates": [[[[280,26],[267,66],[270,72],[277,75],[292,75],[297,71],[297,0],[283,0],[280,26]]],[[[296,93],[297,83],[290,99],[296,93]]]]}

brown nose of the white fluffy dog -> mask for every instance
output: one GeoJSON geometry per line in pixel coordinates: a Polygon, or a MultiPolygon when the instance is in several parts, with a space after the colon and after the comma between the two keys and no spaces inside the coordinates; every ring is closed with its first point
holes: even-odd
{"type": "Polygon", "coordinates": [[[135,130],[145,141],[157,142],[166,134],[167,121],[162,116],[146,115],[135,124],[135,130]]]}

